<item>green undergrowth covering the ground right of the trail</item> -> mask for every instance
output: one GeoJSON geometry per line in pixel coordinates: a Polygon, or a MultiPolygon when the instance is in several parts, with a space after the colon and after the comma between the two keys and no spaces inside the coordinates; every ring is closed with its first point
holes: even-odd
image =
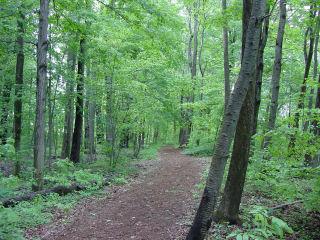
{"type": "MultiPolygon", "coordinates": [[[[240,208],[243,226],[214,223],[209,239],[319,239],[320,229],[316,225],[320,224],[320,167],[307,167],[303,158],[290,158],[285,151],[274,145],[268,150],[254,151],[243,193],[245,203],[240,208]],[[298,200],[302,202],[288,210],[267,211],[268,207],[298,200]]],[[[212,146],[190,147],[184,153],[211,157],[212,146]]],[[[206,178],[207,171],[197,185],[200,190],[204,189],[206,178]]],[[[199,194],[194,194],[194,198],[200,198],[199,194]]]]}

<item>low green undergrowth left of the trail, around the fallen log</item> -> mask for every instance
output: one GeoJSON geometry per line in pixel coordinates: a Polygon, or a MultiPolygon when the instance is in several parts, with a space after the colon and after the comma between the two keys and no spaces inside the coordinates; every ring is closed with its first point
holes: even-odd
{"type": "MultiPolygon", "coordinates": [[[[39,195],[31,201],[23,201],[9,208],[0,204],[0,239],[24,239],[25,229],[50,222],[57,212],[65,214],[72,211],[74,205],[80,204],[84,197],[105,194],[105,191],[100,189],[106,177],[112,176],[110,184],[128,183],[128,178],[138,171],[134,165],[128,163],[154,159],[160,146],[160,144],[145,146],[138,159],[133,159],[130,151],[124,150],[115,167],[110,167],[106,163],[105,156],[97,156],[95,162],[82,162],[78,165],[74,165],[68,159],[57,159],[52,164],[51,170],[45,172],[46,188],[57,185],[70,186],[76,182],[86,186],[86,190],[66,196],[59,196],[56,193],[39,195]],[[93,181],[95,184],[92,184],[93,181]]],[[[31,186],[31,176],[18,178],[12,175],[9,177],[0,175],[0,198],[24,194],[30,191],[31,186]]]]}

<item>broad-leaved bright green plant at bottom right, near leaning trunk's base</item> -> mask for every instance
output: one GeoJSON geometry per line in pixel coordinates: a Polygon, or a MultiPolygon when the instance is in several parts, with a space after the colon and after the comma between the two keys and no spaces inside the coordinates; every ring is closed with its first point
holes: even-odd
{"type": "Polygon", "coordinates": [[[293,230],[283,220],[270,216],[265,207],[253,206],[244,223],[245,230],[237,230],[227,238],[236,237],[237,240],[249,239],[284,239],[284,233],[292,234],[293,230]]]}

